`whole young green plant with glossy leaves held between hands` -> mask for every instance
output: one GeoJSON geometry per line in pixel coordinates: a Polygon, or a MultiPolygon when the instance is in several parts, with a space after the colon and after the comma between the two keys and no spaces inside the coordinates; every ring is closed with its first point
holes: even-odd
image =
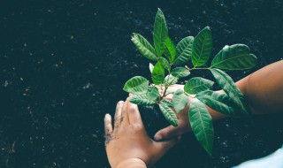
{"type": "Polygon", "coordinates": [[[134,33],[132,36],[132,42],[136,48],[144,57],[155,64],[149,63],[153,83],[149,83],[149,80],[142,76],[135,76],[126,81],[124,90],[134,94],[130,102],[140,105],[158,104],[164,118],[172,126],[178,126],[175,112],[182,111],[190,97],[191,102],[188,110],[190,125],[196,139],[211,155],[214,128],[210,113],[204,104],[232,117],[249,118],[250,110],[244,96],[234,84],[233,79],[220,69],[252,68],[256,65],[256,56],[250,54],[247,45],[234,44],[225,46],[213,58],[210,65],[207,65],[212,51],[210,27],[204,27],[195,38],[193,36],[185,37],[175,47],[168,35],[164,14],[160,9],[157,11],[154,23],[153,41],[154,47],[141,34],[134,33]],[[189,61],[192,62],[192,67],[187,66],[189,61]],[[194,70],[210,71],[218,86],[226,94],[210,90],[214,82],[201,77],[189,79],[184,90],[178,89],[174,93],[167,92],[170,85],[186,78],[194,70]],[[163,92],[159,93],[158,88],[164,89],[163,92]],[[168,94],[173,94],[172,102],[164,99],[168,94]]]}

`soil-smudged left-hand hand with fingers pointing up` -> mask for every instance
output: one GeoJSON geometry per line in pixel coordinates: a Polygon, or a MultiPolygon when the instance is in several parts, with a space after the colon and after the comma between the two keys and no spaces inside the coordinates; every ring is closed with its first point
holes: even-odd
{"type": "Polygon", "coordinates": [[[109,114],[105,115],[104,127],[106,152],[111,167],[117,167],[128,160],[152,166],[180,141],[180,138],[159,142],[151,140],[144,129],[137,105],[129,103],[129,98],[125,103],[120,101],[117,104],[114,129],[109,114]]]}

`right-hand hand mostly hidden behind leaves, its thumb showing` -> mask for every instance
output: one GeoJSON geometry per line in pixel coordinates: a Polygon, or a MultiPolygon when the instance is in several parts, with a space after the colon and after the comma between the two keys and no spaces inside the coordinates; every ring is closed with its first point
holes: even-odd
{"type": "MultiPolygon", "coordinates": [[[[168,92],[175,92],[178,89],[184,89],[184,85],[172,85],[170,86],[167,91],[168,92]]],[[[159,91],[162,92],[163,89],[159,88],[159,91]]],[[[166,95],[166,97],[164,97],[164,99],[170,100],[172,101],[172,94],[166,95]]],[[[157,132],[157,134],[155,134],[154,139],[156,141],[162,141],[162,140],[167,140],[167,139],[171,139],[172,137],[177,137],[180,136],[182,134],[186,134],[187,132],[191,131],[191,126],[189,124],[189,120],[188,120],[188,109],[189,109],[189,104],[190,104],[190,97],[188,98],[188,103],[187,106],[185,107],[185,109],[183,109],[182,111],[180,111],[179,113],[176,113],[177,118],[178,118],[178,126],[174,127],[174,126],[167,126],[161,130],[159,130],[157,132]]]]}

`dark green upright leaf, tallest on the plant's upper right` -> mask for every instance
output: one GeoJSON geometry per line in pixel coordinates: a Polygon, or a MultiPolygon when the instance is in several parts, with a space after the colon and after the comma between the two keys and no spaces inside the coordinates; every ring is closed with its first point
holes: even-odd
{"type": "Polygon", "coordinates": [[[212,34],[210,32],[210,27],[205,27],[199,34],[195,36],[192,49],[193,65],[204,65],[210,59],[211,51],[212,34]]]}

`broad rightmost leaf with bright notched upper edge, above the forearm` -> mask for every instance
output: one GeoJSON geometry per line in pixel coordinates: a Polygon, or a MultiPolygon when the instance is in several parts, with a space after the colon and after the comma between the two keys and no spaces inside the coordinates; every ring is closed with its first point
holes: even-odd
{"type": "Polygon", "coordinates": [[[257,58],[249,54],[249,47],[244,44],[226,46],[212,60],[211,67],[227,70],[249,69],[256,65],[257,58]]]}

